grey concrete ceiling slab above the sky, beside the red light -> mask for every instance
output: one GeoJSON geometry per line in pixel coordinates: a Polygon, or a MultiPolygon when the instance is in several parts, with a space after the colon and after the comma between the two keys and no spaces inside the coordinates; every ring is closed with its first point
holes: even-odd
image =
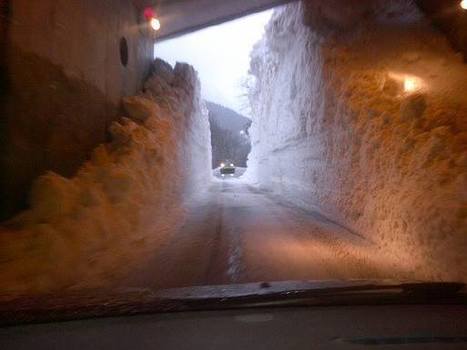
{"type": "Polygon", "coordinates": [[[139,9],[154,7],[161,21],[158,40],[170,39],[294,0],[133,0],[139,9]]]}

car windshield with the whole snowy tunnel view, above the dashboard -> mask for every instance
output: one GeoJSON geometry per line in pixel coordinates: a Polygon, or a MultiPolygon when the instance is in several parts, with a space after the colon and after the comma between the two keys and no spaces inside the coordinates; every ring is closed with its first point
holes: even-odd
{"type": "Polygon", "coordinates": [[[466,19],[465,0],[0,1],[0,314],[465,282],[466,19]]]}

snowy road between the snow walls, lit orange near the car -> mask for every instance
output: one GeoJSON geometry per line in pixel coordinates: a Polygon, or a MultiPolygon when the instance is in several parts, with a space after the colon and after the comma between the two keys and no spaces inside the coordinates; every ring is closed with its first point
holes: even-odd
{"type": "Polygon", "coordinates": [[[241,180],[216,181],[190,205],[182,228],[120,286],[401,277],[384,259],[375,264],[374,252],[317,213],[278,203],[241,180]]]}

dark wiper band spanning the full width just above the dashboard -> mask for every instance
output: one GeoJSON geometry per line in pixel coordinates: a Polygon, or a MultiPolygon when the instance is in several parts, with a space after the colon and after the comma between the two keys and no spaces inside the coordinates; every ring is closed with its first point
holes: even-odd
{"type": "Polygon", "coordinates": [[[251,307],[467,304],[457,282],[286,281],[152,291],[86,291],[0,301],[0,326],[135,314],[251,307]]]}

